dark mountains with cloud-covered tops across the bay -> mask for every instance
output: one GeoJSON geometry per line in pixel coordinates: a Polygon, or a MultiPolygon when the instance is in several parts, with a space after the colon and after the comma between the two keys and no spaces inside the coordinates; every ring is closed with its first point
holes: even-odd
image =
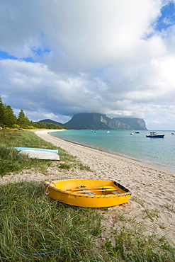
{"type": "Polygon", "coordinates": [[[145,120],[142,118],[108,118],[99,113],[79,113],[64,124],[50,119],[40,120],[39,122],[53,123],[75,130],[147,130],[145,120]]]}

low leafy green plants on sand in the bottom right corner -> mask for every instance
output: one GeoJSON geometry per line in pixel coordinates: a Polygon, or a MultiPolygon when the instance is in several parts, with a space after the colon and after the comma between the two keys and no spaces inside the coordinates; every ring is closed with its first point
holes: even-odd
{"type": "Polygon", "coordinates": [[[116,261],[175,261],[175,249],[168,239],[147,233],[147,227],[140,222],[117,227],[112,233],[113,241],[106,238],[106,250],[116,261]]]}

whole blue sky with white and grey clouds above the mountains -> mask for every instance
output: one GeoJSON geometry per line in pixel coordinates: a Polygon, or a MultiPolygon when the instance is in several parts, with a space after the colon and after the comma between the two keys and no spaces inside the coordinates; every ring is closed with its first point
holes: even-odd
{"type": "Polygon", "coordinates": [[[0,97],[30,120],[77,113],[175,130],[175,0],[0,0],[0,97]]]}

